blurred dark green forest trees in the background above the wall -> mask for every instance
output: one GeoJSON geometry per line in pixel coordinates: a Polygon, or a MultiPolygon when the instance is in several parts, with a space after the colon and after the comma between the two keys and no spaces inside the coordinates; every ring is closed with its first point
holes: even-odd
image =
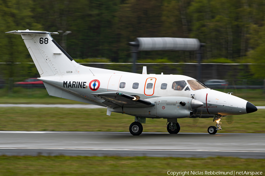
{"type": "MultiPolygon", "coordinates": [[[[137,37],[198,38],[204,62],[265,63],[265,0],[0,0],[0,62],[7,78],[32,62],[13,30],[72,31],[67,53],[75,59],[131,62],[128,42],[137,37]]],[[[53,36],[60,43],[62,33],[53,36]]],[[[140,52],[140,62],[196,62],[194,52],[140,52]]],[[[253,66],[257,78],[262,65],[253,66]]],[[[260,73],[260,71],[262,73],[260,73]]],[[[24,73],[36,74],[34,65],[24,73]]]]}

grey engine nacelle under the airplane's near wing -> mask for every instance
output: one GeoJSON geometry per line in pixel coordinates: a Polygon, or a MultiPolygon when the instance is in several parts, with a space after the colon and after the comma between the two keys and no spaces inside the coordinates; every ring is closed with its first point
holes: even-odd
{"type": "Polygon", "coordinates": [[[117,108],[112,112],[125,113],[145,118],[188,118],[193,115],[192,109],[203,105],[198,100],[188,97],[158,97],[146,99],[155,106],[149,108],[117,108]]]}

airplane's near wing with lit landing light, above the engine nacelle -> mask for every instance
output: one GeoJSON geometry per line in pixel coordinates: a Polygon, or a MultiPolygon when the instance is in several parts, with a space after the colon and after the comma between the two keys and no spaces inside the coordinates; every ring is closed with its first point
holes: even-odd
{"type": "Polygon", "coordinates": [[[119,92],[92,93],[91,95],[105,100],[103,104],[109,108],[148,108],[155,105],[155,103],[141,99],[138,95],[131,96],[119,92]]]}

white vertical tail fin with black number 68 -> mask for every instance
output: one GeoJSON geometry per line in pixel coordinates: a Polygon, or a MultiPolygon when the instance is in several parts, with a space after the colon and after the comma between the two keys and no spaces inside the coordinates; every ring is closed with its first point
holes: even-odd
{"type": "Polygon", "coordinates": [[[80,65],[52,38],[51,34],[57,32],[25,30],[6,33],[22,36],[41,77],[78,73],[80,65]]]}

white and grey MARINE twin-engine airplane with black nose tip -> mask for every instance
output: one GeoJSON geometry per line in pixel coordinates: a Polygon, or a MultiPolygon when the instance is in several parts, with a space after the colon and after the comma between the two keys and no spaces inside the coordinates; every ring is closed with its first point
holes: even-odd
{"type": "Polygon", "coordinates": [[[52,38],[57,32],[18,30],[51,96],[107,107],[112,112],[134,116],[129,131],[143,132],[146,118],[167,119],[170,134],[180,131],[178,118],[213,118],[216,134],[221,118],[257,111],[252,103],[232,93],[208,88],[204,83],[183,75],[142,74],[82,66],[52,38]]]}

